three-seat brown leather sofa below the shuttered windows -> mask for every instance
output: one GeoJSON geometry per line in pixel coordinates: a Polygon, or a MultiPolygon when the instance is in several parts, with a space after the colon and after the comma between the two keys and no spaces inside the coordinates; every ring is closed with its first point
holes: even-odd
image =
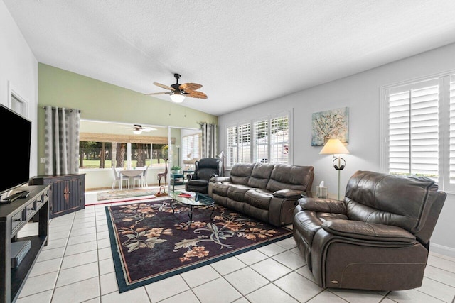
{"type": "Polygon", "coordinates": [[[208,194],[217,204],[256,219],[291,224],[296,202],[313,183],[312,166],[272,163],[235,164],[229,177],[214,177],[208,194]]]}

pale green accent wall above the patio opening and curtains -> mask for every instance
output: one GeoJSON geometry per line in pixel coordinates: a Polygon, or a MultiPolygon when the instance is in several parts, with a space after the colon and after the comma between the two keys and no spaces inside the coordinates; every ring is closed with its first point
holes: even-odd
{"type": "MultiPolygon", "coordinates": [[[[150,90],[154,87],[150,84],[150,90]]],[[[183,101],[185,102],[185,101],[183,101]]],[[[57,67],[38,64],[38,162],[44,157],[43,106],[80,109],[81,119],[176,128],[218,124],[218,117],[57,67]]],[[[38,175],[44,165],[38,165],[38,175]]]]}

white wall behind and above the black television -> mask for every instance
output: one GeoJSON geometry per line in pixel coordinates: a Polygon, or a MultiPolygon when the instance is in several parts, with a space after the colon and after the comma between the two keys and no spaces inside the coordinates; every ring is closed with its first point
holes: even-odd
{"type": "MultiPolygon", "coordinates": [[[[27,118],[32,121],[30,176],[38,170],[37,109],[38,61],[28,47],[13,17],[0,1],[0,103],[9,106],[10,87],[28,102],[27,118]]],[[[6,129],[5,131],[11,131],[6,129]]]]}

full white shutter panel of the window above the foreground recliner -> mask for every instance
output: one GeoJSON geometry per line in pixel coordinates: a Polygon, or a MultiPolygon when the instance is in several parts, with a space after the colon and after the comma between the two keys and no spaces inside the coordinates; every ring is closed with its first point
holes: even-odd
{"type": "Polygon", "coordinates": [[[388,91],[388,170],[438,181],[439,80],[388,91]]]}

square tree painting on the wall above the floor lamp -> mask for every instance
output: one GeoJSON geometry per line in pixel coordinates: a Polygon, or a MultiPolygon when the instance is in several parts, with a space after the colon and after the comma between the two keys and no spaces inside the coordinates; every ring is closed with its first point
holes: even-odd
{"type": "Polygon", "coordinates": [[[323,146],[328,139],[349,143],[349,109],[331,109],[311,115],[311,146],[323,146]]]}

